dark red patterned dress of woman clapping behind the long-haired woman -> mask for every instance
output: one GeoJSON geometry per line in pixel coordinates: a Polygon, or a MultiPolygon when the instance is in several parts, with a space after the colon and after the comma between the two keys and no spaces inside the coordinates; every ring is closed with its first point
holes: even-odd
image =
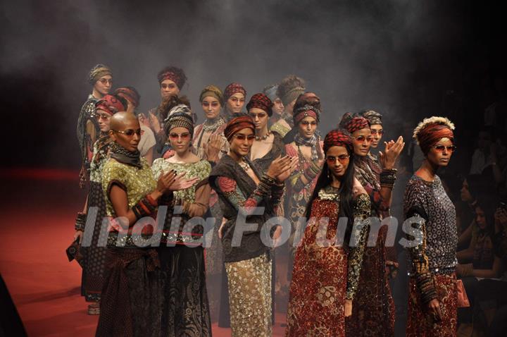
{"type": "MultiPolygon", "coordinates": [[[[380,195],[380,178],[367,157],[354,160],[356,178],[370,196],[371,216],[389,214],[389,201],[380,195]]],[[[394,336],[394,300],[385,267],[387,226],[382,226],[374,247],[366,247],[359,288],[352,304],[352,316],[346,320],[350,336],[394,336]]]]}

